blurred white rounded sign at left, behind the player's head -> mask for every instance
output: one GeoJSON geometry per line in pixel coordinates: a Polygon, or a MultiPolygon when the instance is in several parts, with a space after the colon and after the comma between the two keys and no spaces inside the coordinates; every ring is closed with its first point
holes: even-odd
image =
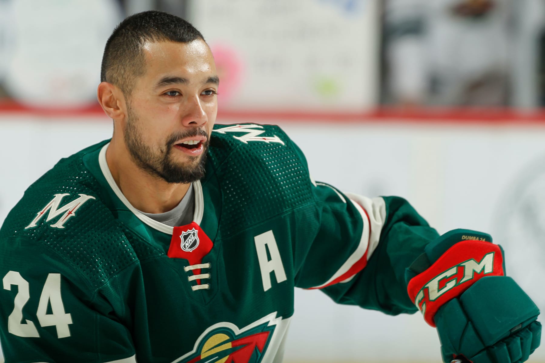
{"type": "Polygon", "coordinates": [[[3,0],[0,11],[7,96],[31,107],[96,103],[102,52],[123,17],[117,2],[3,0]]]}

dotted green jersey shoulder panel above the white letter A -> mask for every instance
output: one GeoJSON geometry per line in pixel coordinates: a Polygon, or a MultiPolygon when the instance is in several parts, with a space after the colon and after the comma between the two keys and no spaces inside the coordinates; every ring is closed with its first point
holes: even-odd
{"type": "Polygon", "coordinates": [[[259,214],[268,203],[281,213],[313,201],[306,159],[276,125],[217,125],[209,157],[224,194],[246,212],[256,206],[259,214]]]}

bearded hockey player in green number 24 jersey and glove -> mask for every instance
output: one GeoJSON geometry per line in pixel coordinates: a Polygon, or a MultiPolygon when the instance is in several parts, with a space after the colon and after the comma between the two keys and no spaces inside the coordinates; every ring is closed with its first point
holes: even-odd
{"type": "Polygon", "coordinates": [[[539,311],[489,235],[438,236],[401,198],[313,181],[276,126],[214,126],[218,82],[184,20],[114,30],[112,139],[59,161],[0,230],[5,362],[280,362],[295,286],[420,310],[445,361],[528,359],[539,311]]]}

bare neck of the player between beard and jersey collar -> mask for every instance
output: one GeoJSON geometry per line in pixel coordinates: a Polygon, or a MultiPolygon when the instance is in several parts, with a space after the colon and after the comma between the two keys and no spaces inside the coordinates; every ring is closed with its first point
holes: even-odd
{"type": "Polygon", "coordinates": [[[189,183],[167,183],[142,170],[133,161],[125,144],[113,138],[106,150],[106,162],[125,198],[142,212],[168,212],[180,203],[189,190],[189,183]]]}

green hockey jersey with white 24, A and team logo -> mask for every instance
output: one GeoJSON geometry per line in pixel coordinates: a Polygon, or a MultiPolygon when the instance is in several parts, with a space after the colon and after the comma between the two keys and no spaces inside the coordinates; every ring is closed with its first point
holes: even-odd
{"type": "Polygon", "coordinates": [[[214,127],[184,226],[130,205],[107,147],[59,161],[0,230],[6,363],[281,362],[294,287],[417,310],[404,270],[437,232],[401,198],[313,181],[277,126],[214,127]]]}

